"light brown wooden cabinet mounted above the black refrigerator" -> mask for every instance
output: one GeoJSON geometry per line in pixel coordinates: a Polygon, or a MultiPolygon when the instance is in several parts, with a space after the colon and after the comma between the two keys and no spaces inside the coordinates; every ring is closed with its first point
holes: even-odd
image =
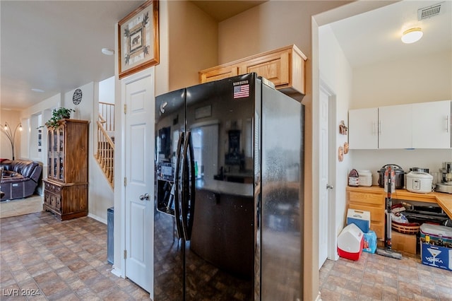
{"type": "Polygon", "coordinates": [[[276,89],[292,98],[301,99],[306,94],[304,79],[306,60],[307,57],[297,46],[290,45],[199,71],[199,81],[207,83],[256,72],[258,76],[274,83],[276,89]]]}

